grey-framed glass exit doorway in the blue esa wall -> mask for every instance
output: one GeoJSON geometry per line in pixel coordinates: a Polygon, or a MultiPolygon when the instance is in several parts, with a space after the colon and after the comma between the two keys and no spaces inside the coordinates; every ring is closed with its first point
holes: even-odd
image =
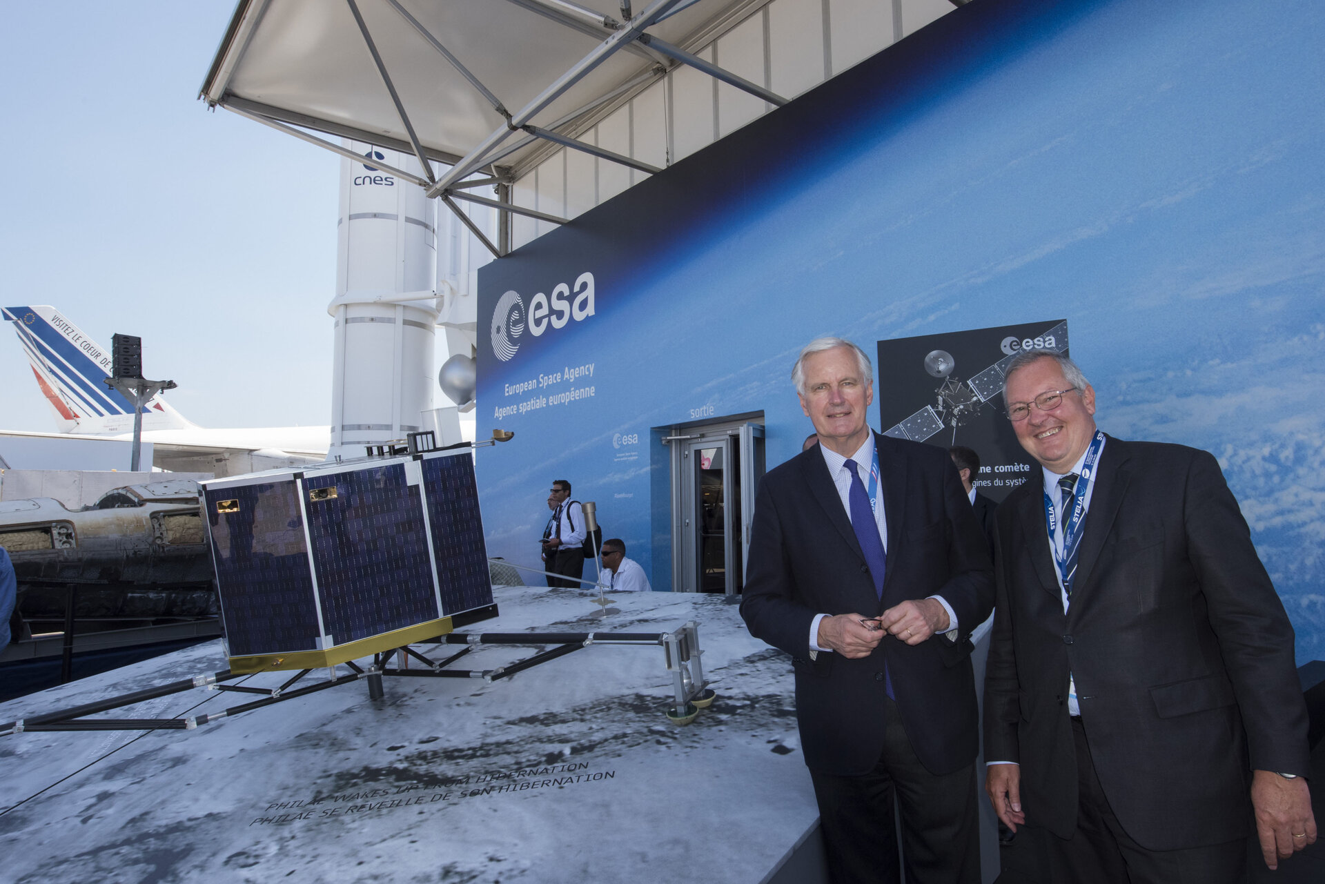
{"type": "Polygon", "coordinates": [[[737,595],[745,584],[763,412],[672,427],[672,588],[737,595]]]}

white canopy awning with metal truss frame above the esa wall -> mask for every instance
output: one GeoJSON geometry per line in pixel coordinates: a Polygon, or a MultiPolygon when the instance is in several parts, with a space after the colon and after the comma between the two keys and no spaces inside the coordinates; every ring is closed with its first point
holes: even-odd
{"type": "MultiPolygon", "coordinates": [[[[421,175],[387,171],[462,220],[453,199],[559,221],[513,205],[509,188],[498,200],[464,188],[510,184],[558,146],[660,171],[576,135],[677,65],[786,103],[690,52],[768,0],[633,3],[240,0],[201,97],[352,159],[313,133],[413,154],[421,175]]],[[[494,253],[507,249],[470,229],[494,253]]]]}

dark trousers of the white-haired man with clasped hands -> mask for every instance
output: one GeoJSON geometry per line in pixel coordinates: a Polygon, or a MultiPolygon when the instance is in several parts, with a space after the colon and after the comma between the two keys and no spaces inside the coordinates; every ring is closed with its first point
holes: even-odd
{"type": "Polygon", "coordinates": [[[901,880],[893,797],[901,808],[908,884],[979,884],[975,766],[937,777],[920,762],[885,698],[888,728],[874,769],[860,777],[810,771],[833,884],[901,880]]]}

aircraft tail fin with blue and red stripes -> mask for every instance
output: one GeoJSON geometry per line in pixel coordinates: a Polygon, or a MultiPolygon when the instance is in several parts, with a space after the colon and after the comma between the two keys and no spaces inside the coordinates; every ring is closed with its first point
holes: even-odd
{"type": "MultiPolygon", "coordinates": [[[[49,305],[0,309],[12,322],[42,396],[60,432],[123,433],[134,428],[134,404],[105,384],[110,353],[49,305]]],[[[143,408],[143,429],[192,427],[183,415],[154,396],[143,408]]]]}

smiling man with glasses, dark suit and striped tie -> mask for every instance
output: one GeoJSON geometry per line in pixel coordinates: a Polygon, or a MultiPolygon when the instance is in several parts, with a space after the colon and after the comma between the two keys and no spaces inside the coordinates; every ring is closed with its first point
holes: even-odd
{"type": "Polygon", "coordinates": [[[1094,424],[1071,359],[1011,362],[1043,467],[999,506],[986,791],[1040,880],[1242,881],[1316,840],[1293,630],[1215,459],[1094,424]],[[1012,763],[1000,763],[1012,762],[1012,763]],[[1248,801],[1249,797],[1249,801],[1248,801]]]}

